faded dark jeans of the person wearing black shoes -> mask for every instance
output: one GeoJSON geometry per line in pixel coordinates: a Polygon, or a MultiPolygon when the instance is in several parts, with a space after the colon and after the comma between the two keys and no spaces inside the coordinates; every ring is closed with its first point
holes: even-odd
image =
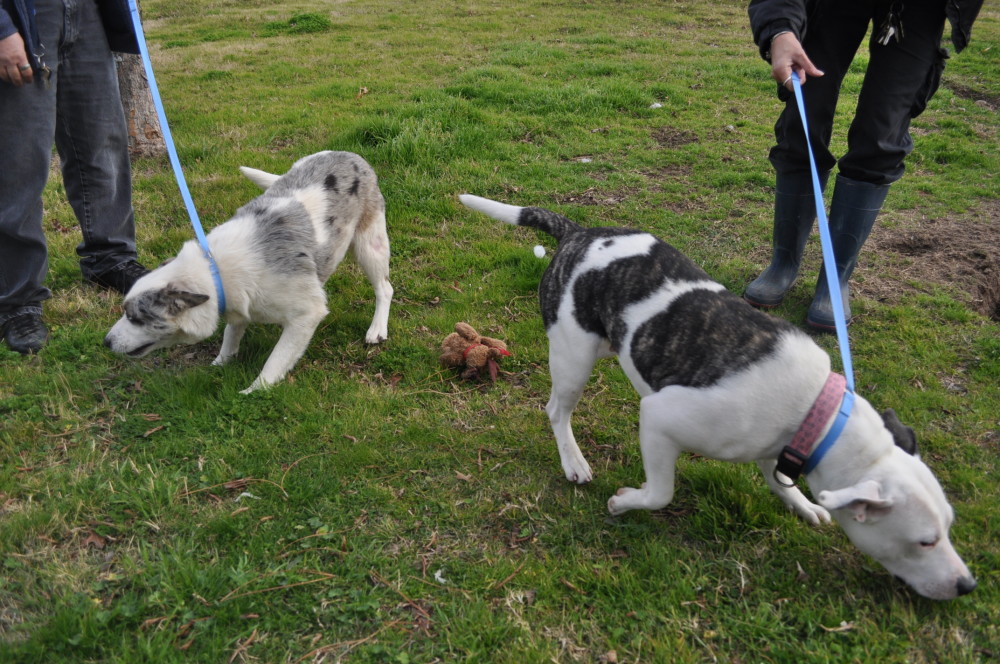
{"type": "Polygon", "coordinates": [[[86,278],[134,260],[128,132],[115,60],[95,0],[36,0],[48,84],[0,82],[0,324],[41,313],[48,249],[42,191],[52,144],[80,224],[86,278]]]}

